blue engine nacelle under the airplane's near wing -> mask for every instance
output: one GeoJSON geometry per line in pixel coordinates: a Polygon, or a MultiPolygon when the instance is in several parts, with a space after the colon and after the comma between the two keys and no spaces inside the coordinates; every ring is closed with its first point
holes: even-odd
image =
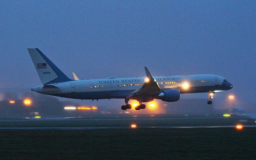
{"type": "Polygon", "coordinates": [[[164,90],[158,98],[165,102],[175,102],[180,99],[180,91],[175,89],[164,90]]]}

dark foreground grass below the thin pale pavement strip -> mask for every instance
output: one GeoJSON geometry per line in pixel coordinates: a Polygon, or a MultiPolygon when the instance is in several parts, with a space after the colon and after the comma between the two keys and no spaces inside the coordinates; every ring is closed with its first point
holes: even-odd
{"type": "Polygon", "coordinates": [[[255,160],[256,128],[0,130],[0,159],[255,160]]]}

